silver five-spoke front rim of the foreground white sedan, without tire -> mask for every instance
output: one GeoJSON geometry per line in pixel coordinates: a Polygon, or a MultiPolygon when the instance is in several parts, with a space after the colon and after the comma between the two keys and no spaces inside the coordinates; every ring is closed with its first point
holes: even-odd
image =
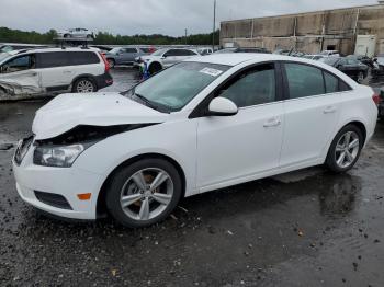
{"type": "Polygon", "coordinates": [[[161,169],[144,169],[133,174],[121,190],[120,204],[131,219],[150,220],[161,215],[172,200],[173,182],[161,169]]]}

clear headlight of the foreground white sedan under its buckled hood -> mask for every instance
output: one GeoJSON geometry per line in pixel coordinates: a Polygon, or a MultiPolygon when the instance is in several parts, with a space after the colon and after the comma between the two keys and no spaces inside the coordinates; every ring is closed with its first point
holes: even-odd
{"type": "Polygon", "coordinates": [[[70,168],[76,159],[91,145],[39,146],[33,154],[33,163],[44,167],[70,168]]]}

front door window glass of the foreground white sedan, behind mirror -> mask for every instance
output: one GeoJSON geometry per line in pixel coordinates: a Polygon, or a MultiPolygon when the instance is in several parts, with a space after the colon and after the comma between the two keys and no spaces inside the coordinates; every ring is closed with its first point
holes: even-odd
{"type": "Polygon", "coordinates": [[[274,102],[276,81],[273,64],[260,65],[241,72],[218,92],[238,107],[274,102]]]}

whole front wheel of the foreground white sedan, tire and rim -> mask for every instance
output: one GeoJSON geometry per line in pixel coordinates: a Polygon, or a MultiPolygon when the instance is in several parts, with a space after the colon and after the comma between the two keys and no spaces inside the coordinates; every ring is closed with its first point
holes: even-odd
{"type": "Polygon", "coordinates": [[[182,183],[173,164],[162,159],[143,159],[117,170],[108,187],[105,204],[109,213],[121,225],[143,228],[166,219],[181,195],[182,183]],[[160,181],[159,186],[151,190],[149,186],[156,186],[154,183],[158,176],[167,180],[160,181]],[[143,183],[137,179],[143,179],[144,184],[137,184],[137,181],[143,183]],[[145,186],[146,191],[143,192],[139,185],[145,186]]]}

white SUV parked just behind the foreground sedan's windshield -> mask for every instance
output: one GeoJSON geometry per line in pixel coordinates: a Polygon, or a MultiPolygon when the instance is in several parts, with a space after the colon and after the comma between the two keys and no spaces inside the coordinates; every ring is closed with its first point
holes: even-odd
{"type": "Polygon", "coordinates": [[[161,71],[163,68],[168,68],[174,64],[195,56],[201,56],[196,49],[163,48],[155,51],[151,55],[138,57],[137,62],[142,71],[144,71],[145,66],[147,66],[149,73],[155,74],[161,71]]]}

